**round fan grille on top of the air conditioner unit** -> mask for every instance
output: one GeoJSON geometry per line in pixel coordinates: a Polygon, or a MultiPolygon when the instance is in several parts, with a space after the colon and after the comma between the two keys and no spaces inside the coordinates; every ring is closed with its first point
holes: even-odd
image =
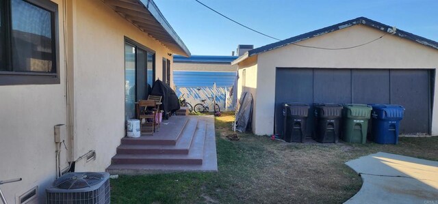
{"type": "Polygon", "coordinates": [[[99,173],[68,173],[57,179],[53,186],[61,189],[86,188],[99,184],[103,179],[104,175],[99,173]]]}

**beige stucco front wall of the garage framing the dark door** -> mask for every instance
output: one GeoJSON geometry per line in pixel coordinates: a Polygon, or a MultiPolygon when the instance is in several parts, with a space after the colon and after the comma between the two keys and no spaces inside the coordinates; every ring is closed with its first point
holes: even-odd
{"type": "MultiPolygon", "coordinates": [[[[363,25],[320,35],[298,44],[326,48],[348,47],[370,42],[385,34],[363,25]]],[[[272,134],[276,67],[290,68],[375,68],[436,69],[438,50],[387,34],[381,40],[347,50],[321,50],[284,46],[261,53],[257,61],[257,96],[255,100],[255,134],[272,134]]],[[[435,90],[437,90],[435,83],[435,90]]],[[[433,110],[437,109],[437,94],[433,110]]],[[[438,113],[433,111],[432,133],[438,134],[438,113]]]]}

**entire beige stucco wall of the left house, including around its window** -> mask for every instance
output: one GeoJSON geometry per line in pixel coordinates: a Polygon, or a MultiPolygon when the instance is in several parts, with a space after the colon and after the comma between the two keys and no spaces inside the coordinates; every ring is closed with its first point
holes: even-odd
{"type": "MultiPolygon", "coordinates": [[[[74,160],[96,151],[95,160],[77,161],[75,171],[105,171],[110,165],[125,136],[125,36],[155,50],[156,78],[162,78],[162,58],[171,59],[170,50],[99,0],[67,1],[64,44],[63,1],[54,2],[59,12],[61,83],[0,86],[0,179],[23,178],[1,186],[8,203],[34,186],[40,203],[45,202],[44,190],[55,179],[57,124],[69,125],[74,160]]],[[[68,167],[63,164],[62,169],[68,167]]]]}

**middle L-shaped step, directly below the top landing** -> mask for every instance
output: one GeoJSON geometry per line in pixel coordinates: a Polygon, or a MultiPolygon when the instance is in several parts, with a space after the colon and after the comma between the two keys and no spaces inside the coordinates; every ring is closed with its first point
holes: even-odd
{"type": "Polygon", "coordinates": [[[197,119],[191,119],[181,132],[176,145],[120,145],[117,154],[189,154],[196,132],[197,119]],[[196,121],[196,125],[194,124],[196,121]]]}

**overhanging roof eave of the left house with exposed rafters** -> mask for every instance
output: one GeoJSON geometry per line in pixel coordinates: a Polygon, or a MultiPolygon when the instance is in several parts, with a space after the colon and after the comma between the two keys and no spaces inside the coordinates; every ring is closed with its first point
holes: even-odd
{"type": "Polygon", "coordinates": [[[138,29],[161,42],[172,50],[173,53],[188,57],[191,55],[183,40],[172,29],[153,0],[101,1],[109,5],[110,8],[138,27],[138,29]]]}

